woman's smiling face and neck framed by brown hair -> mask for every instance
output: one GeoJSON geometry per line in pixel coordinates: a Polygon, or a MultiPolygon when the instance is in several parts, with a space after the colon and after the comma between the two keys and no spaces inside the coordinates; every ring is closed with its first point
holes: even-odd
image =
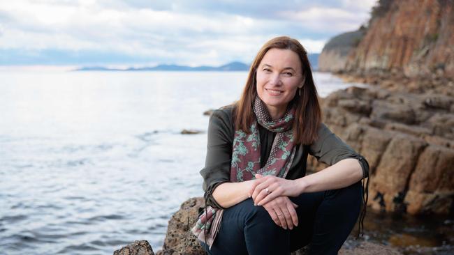
{"type": "Polygon", "coordinates": [[[269,49],[258,65],[257,94],[274,120],[284,115],[302,87],[301,70],[300,57],[290,49],[269,49]]]}

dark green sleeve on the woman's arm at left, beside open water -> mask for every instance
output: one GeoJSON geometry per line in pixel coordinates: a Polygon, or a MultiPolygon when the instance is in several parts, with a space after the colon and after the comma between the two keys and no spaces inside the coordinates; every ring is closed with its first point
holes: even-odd
{"type": "Polygon", "coordinates": [[[200,170],[203,177],[205,202],[208,206],[222,208],[212,196],[221,183],[230,182],[233,129],[227,110],[216,110],[210,117],[207,135],[207,157],[205,167],[200,170]]]}

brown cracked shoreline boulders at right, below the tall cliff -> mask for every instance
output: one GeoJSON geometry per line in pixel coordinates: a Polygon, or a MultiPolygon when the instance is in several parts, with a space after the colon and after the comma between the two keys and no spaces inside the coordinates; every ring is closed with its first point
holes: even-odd
{"type": "MultiPolygon", "coordinates": [[[[343,77],[376,84],[336,91],[322,103],[323,121],[369,161],[369,205],[388,212],[452,214],[453,82],[432,81],[433,91],[418,93],[428,79],[343,77]]],[[[308,166],[324,168],[314,158],[308,166]]]]}

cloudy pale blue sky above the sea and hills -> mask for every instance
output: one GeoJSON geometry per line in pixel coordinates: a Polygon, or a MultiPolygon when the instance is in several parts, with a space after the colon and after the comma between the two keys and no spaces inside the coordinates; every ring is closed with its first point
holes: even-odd
{"type": "Polygon", "coordinates": [[[0,0],[0,65],[250,63],[275,36],[319,53],[376,0],[0,0]]]}

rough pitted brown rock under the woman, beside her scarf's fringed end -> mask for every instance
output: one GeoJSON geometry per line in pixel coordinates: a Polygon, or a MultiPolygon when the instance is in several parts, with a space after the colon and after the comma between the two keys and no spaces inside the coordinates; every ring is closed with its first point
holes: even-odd
{"type": "Polygon", "coordinates": [[[163,249],[157,255],[198,255],[203,254],[203,248],[191,233],[191,228],[196,224],[200,210],[205,206],[201,197],[192,198],[180,206],[169,221],[163,249]]]}

